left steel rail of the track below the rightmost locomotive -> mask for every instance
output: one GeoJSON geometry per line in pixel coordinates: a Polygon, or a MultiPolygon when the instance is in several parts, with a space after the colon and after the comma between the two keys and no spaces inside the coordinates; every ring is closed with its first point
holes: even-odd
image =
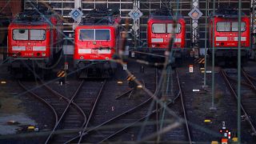
{"type": "MultiPolygon", "coordinates": [[[[224,70],[221,70],[221,73],[222,73],[222,77],[224,78],[226,84],[229,86],[230,88],[230,92],[234,95],[234,97],[238,100],[238,95],[236,94],[233,86],[231,85],[230,81],[228,80],[228,75],[226,74],[226,72],[224,70]]],[[[243,111],[243,113],[245,114],[246,116],[246,121],[249,123],[251,129],[254,131],[254,134],[256,134],[256,130],[255,130],[255,127],[253,125],[253,123],[251,122],[250,120],[250,117],[249,115],[247,114],[246,110],[244,109],[244,107],[242,106],[242,103],[240,103],[240,106],[241,106],[241,109],[243,111]]]]}

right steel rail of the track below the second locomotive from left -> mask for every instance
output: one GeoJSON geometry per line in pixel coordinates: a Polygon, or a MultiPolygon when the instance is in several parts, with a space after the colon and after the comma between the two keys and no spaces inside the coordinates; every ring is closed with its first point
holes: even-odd
{"type": "Polygon", "coordinates": [[[82,129],[82,133],[81,133],[81,136],[80,136],[80,138],[79,138],[78,143],[82,142],[82,138],[83,138],[83,136],[84,136],[84,135],[82,135],[82,134],[86,131],[86,128],[87,128],[87,126],[88,126],[88,124],[89,124],[89,122],[90,122],[90,118],[91,118],[92,115],[94,114],[94,109],[95,109],[95,107],[96,107],[97,104],[98,104],[98,99],[99,99],[100,96],[102,95],[102,90],[103,90],[103,88],[104,88],[105,85],[106,85],[106,80],[102,83],[101,89],[98,91],[98,95],[97,95],[97,97],[96,97],[96,99],[95,99],[95,101],[94,101],[94,106],[93,106],[92,110],[90,110],[89,118],[87,119],[86,126],[84,126],[83,129],[82,129]]]}

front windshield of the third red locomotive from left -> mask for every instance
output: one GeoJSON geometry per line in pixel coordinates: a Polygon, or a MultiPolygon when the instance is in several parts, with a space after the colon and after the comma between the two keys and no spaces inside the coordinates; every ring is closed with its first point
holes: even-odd
{"type": "Polygon", "coordinates": [[[181,32],[181,24],[177,24],[177,27],[176,29],[174,30],[174,24],[172,23],[154,23],[152,25],[152,32],[155,33],[155,34],[170,34],[170,33],[180,33],[181,32]]]}

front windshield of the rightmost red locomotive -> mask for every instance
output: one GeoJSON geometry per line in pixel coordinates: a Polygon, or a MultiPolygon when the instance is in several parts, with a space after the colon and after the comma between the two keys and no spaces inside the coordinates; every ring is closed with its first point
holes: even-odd
{"type": "MultiPolygon", "coordinates": [[[[238,22],[217,22],[218,32],[238,31],[238,22]]],[[[246,22],[241,22],[241,31],[246,31],[246,22]]]]}

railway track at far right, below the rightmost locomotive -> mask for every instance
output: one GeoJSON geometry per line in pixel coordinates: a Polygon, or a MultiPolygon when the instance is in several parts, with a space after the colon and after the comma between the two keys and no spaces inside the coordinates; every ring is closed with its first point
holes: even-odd
{"type": "MultiPolygon", "coordinates": [[[[235,73],[235,72],[234,72],[235,73]]],[[[234,96],[236,100],[238,100],[238,95],[237,95],[237,80],[234,78],[234,76],[230,76],[227,74],[225,70],[221,70],[222,78],[226,82],[226,86],[230,89],[230,93],[234,96]],[[232,82],[233,81],[233,82],[232,82]]],[[[243,74],[243,80],[241,84],[243,86],[247,86],[250,89],[254,90],[254,84],[250,81],[250,75],[246,73],[245,70],[242,70],[243,74]],[[246,82],[248,81],[248,82],[246,82]]],[[[256,129],[255,129],[255,117],[254,114],[256,112],[256,109],[254,108],[256,98],[255,97],[250,97],[246,98],[245,94],[248,93],[248,90],[243,90],[242,89],[242,101],[241,101],[241,110],[242,110],[242,120],[246,121],[248,126],[250,126],[250,134],[255,135],[256,134],[256,129]]]]}

